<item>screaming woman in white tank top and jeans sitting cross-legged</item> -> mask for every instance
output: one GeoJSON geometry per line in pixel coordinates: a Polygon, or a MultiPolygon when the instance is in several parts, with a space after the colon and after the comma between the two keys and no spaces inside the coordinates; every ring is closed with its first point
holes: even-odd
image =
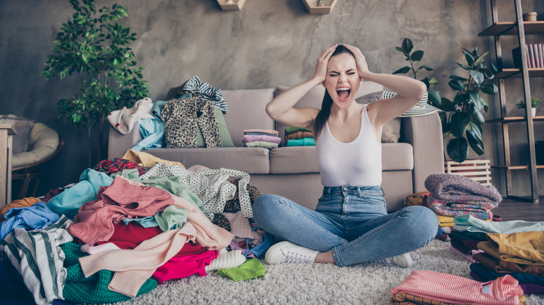
{"type": "Polygon", "coordinates": [[[410,251],[428,244],[438,220],[428,208],[411,206],[387,213],[381,189],[381,130],[414,107],[425,94],[421,81],[370,72],[357,47],[333,45],[319,56],[315,75],[266,105],[271,118],[306,127],[317,138],[317,161],[324,187],[317,208],[262,195],[253,217],[266,232],[286,242],[274,244],[266,262],[335,263],[349,266],[380,260],[399,267],[412,264],[410,251]],[[398,93],[370,105],[354,97],[363,79],[398,93]],[[326,88],[322,109],[293,108],[318,84],[326,88]]]}

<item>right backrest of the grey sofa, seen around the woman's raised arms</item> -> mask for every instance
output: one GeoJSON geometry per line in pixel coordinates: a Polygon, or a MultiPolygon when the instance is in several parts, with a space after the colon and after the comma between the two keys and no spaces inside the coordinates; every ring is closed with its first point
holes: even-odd
{"type": "MultiPolygon", "coordinates": [[[[278,86],[275,88],[275,96],[280,95],[281,93],[287,91],[291,87],[287,86],[278,86]]],[[[363,95],[368,95],[370,93],[375,93],[378,91],[383,91],[384,86],[381,86],[380,84],[377,84],[372,81],[363,81],[361,83],[361,86],[359,87],[359,90],[357,92],[357,95],[355,98],[362,97],[363,95]]],[[[299,102],[295,104],[295,108],[305,108],[305,107],[312,107],[321,109],[321,104],[323,102],[323,97],[325,95],[325,88],[322,85],[315,86],[312,88],[308,93],[306,93],[299,102]]],[[[283,123],[276,122],[275,124],[276,130],[280,132],[280,137],[282,139],[281,145],[285,146],[285,139],[283,139],[285,135],[285,128],[289,127],[283,123]]]]}

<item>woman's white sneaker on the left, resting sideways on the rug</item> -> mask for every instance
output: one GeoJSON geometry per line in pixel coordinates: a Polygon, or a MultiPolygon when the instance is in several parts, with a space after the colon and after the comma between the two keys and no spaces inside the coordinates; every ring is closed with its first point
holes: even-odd
{"type": "Polygon", "coordinates": [[[319,251],[308,249],[292,242],[278,242],[274,244],[266,254],[264,259],[269,264],[281,263],[314,263],[315,256],[319,251]]]}

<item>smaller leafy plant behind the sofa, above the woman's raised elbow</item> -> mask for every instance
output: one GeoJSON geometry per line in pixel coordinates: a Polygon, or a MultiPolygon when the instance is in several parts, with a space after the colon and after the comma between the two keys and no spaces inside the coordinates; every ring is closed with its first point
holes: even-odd
{"type": "Polygon", "coordinates": [[[433,71],[434,69],[430,68],[428,65],[421,65],[417,69],[414,66],[417,61],[421,61],[423,59],[423,54],[425,54],[425,52],[421,50],[416,50],[418,44],[419,41],[416,42],[416,44],[414,45],[414,43],[409,38],[405,38],[404,40],[402,40],[402,45],[400,47],[396,47],[396,49],[399,52],[402,52],[402,54],[405,56],[405,60],[409,62],[409,65],[405,65],[399,70],[396,70],[395,72],[393,72],[393,74],[408,74],[409,72],[412,72],[412,74],[414,74],[414,79],[423,81],[423,83],[425,83],[425,85],[427,86],[427,92],[431,103],[436,103],[439,102],[440,95],[438,91],[430,90],[430,88],[438,84],[438,80],[435,77],[431,77],[430,79],[429,77],[425,77],[423,79],[418,78],[418,72],[421,69],[427,71],[433,71]]]}

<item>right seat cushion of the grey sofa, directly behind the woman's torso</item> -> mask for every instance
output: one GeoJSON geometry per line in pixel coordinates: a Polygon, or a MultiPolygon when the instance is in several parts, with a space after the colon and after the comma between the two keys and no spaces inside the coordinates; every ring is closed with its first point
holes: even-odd
{"type": "MultiPolygon", "coordinates": [[[[414,150],[409,143],[382,143],[383,171],[414,169],[414,150]]],[[[270,151],[270,173],[319,173],[315,146],[282,146],[270,151]]]]}

